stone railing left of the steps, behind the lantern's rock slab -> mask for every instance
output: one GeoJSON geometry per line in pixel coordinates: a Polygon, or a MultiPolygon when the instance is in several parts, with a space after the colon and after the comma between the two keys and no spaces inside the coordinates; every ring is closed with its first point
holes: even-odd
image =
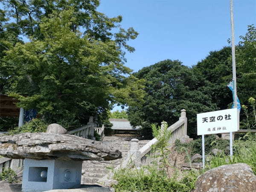
{"type": "Polygon", "coordinates": [[[80,128],[72,130],[72,131],[68,131],[67,134],[93,139],[94,138],[94,125],[95,124],[93,122],[93,117],[90,116],[90,119],[89,119],[89,122],[87,123],[87,125],[84,125],[80,128]]]}

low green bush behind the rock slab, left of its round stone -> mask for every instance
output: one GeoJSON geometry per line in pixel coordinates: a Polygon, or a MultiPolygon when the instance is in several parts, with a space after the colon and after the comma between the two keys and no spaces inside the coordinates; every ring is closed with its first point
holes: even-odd
{"type": "Polygon", "coordinates": [[[25,123],[21,127],[15,127],[9,130],[9,134],[19,134],[19,133],[35,133],[35,132],[46,132],[47,123],[41,119],[32,119],[30,122],[25,123]]]}

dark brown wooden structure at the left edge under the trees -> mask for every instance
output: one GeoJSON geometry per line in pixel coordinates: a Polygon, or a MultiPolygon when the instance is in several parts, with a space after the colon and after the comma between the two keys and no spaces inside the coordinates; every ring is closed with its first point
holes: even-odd
{"type": "Polygon", "coordinates": [[[18,117],[20,108],[15,105],[17,100],[6,95],[0,95],[0,116],[18,117]]]}

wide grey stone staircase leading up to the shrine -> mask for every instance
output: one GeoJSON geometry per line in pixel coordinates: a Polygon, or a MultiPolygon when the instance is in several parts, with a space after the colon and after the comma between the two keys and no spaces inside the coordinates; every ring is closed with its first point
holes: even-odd
{"type": "MultiPolygon", "coordinates": [[[[112,161],[84,161],[82,166],[81,184],[97,184],[98,180],[111,172],[113,168],[122,163],[127,157],[130,149],[131,137],[104,137],[106,145],[122,152],[122,159],[112,161]]],[[[149,140],[140,140],[139,145],[143,147],[149,140]]]]}

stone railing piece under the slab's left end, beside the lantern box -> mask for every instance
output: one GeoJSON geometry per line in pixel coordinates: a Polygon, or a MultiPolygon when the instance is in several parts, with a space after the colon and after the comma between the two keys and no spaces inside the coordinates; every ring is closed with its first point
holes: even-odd
{"type": "Polygon", "coordinates": [[[3,169],[11,168],[16,173],[18,173],[20,172],[22,166],[23,166],[22,159],[10,159],[7,157],[0,157],[0,172],[2,172],[3,169]]]}

